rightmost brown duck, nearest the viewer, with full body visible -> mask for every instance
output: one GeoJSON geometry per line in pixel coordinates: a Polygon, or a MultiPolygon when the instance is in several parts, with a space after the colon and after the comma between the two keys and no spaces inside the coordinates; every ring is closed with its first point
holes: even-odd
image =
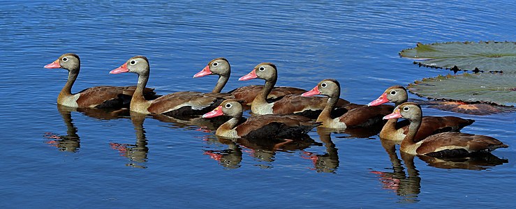
{"type": "Polygon", "coordinates": [[[498,139],[482,135],[464,134],[459,132],[443,132],[430,135],[415,142],[414,137],[421,126],[422,110],[419,104],[405,102],[384,119],[405,118],[411,124],[408,132],[401,141],[399,150],[411,155],[429,155],[431,157],[463,157],[473,153],[487,153],[496,148],[507,148],[498,139]]]}

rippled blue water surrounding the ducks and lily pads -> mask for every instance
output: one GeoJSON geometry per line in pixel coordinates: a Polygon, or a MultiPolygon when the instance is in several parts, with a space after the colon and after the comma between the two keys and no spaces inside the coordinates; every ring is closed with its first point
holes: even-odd
{"type": "Polygon", "coordinates": [[[210,91],[216,77],[191,77],[224,56],[233,68],[226,91],[263,84],[237,77],[267,61],[278,66],[280,86],[310,89],[334,78],[343,85],[341,97],[365,104],[388,86],[448,73],[399,58],[401,49],[416,42],[514,41],[513,1],[1,5],[2,208],[516,206],[510,195],[516,192],[514,113],[424,109],[428,115],[473,118],[476,123],[463,132],[510,146],[493,153],[507,163],[453,169],[389,155],[377,135],[328,137],[314,131],[310,136],[319,145],[271,151],[219,141],[195,125],[68,112],[56,105],[66,71],[43,68],[75,52],[82,70],[73,92],[126,86],[135,84],[135,75],[108,75],[109,70],[145,55],[152,68],[148,86],[166,94],[210,91]]]}

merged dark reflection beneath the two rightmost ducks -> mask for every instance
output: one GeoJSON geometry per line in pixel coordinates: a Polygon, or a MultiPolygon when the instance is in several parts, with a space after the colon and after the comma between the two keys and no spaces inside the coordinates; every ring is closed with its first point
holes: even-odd
{"type": "MultiPolygon", "coordinates": [[[[408,153],[400,152],[406,171],[401,164],[396,153],[396,146],[399,141],[392,141],[389,139],[381,139],[381,143],[385,151],[388,153],[390,162],[392,163],[392,172],[372,171],[379,177],[383,184],[383,189],[390,189],[401,196],[401,202],[417,202],[418,194],[421,189],[421,178],[419,171],[415,168],[414,157],[408,153]]],[[[492,155],[492,153],[482,153],[470,157],[462,157],[455,159],[439,159],[436,157],[429,157],[427,155],[418,155],[418,157],[427,162],[431,167],[439,169],[470,169],[470,170],[485,170],[499,164],[507,163],[508,160],[501,159],[492,155]]]]}

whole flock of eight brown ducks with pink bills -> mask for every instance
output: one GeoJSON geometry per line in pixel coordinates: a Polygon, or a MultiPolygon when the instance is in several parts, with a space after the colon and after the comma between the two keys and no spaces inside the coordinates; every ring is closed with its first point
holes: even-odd
{"type": "Polygon", "coordinates": [[[133,56],[110,74],[134,72],[136,86],[94,86],[78,93],[71,88],[80,71],[77,54],[63,54],[45,68],[68,70],[68,81],[57,97],[57,103],[73,108],[129,108],[141,114],[163,114],[177,118],[206,118],[218,127],[215,134],[227,139],[267,139],[277,144],[303,140],[314,127],[346,130],[383,124],[382,139],[401,144],[400,150],[411,155],[431,157],[466,157],[487,153],[508,145],[493,137],[461,133],[459,130],[474,121],[455,116],[422,116],[419,104],[407,102],[403,86],[392,86],[369,104],[353,104],[340,97],[340,84],[335,79],[323,79],[310,91],[294,87],[277,87],[277,68],[273,63],[260,63],[239,78],[264,79],[265,84],[242,86],[221,93],[230,77],[230,63],[217,58],[209,61],[193,77],[218,75],[210,93],[181,91],[156,95],[146,88],[149,80],[149,60],[133,56]],[[324,95],[316,97],[314,95],[324,95]],[[390,106],[384,103],[392,102],[390,106]],[[251,110],[244,118],[243,112],[251,110]],[[398,121],[398,118],[405,118],[398,121]]]}

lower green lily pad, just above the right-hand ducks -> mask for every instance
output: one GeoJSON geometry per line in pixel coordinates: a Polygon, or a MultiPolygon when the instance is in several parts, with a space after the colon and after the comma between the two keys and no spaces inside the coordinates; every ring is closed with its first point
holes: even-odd
{"type": "Polygon", "coordinates": [[[516,104],[516,73],[439,75],[408,84],[408,91],[420,97],[469,103],[516,104]]]}

